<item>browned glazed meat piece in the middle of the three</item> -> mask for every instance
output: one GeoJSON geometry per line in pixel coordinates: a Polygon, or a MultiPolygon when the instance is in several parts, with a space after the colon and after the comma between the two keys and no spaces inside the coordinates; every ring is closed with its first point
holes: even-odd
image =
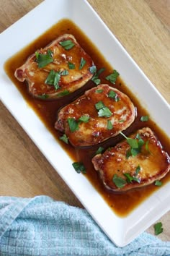
{"type": "Polygon", "coordinates": [[[73,146],[89,146],[116,136],[134,119],[135,107],[127,95],[109,85],[98,85],[61,108],[55,128],[73,146]]]}

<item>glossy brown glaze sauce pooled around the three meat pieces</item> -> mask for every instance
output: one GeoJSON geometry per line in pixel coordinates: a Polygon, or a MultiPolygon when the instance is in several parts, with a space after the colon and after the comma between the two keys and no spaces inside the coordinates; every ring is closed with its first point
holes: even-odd
{"type": "MultiPolygon", "coordinates": [[[[65,98],[61,98],[55,101],[42,101],[39,99],[32,98],[32,96],[28,93],[27,85],[25,83],[19,82],[14,77],[15,69],[20,67],[24,64],[24,61],[27,60],[27,57],[34,53],[37,49],[43,48],[48,45],[52,40],[57,38],[59,35],[63,33],[71,33],[75,36],[76,40],[80,43],[81,47],[91,56],[94,61],[94,64],[97,66],[97,69],[105,67],[106,70],[100,75],[101,83],[107,83],[110,86],[113,86],[109,81],[105,80],[104,77],[107,74],[112,72],[113,67],[104,59],[104,56],[99,52],[99,50],[91,43],[91,40],[84,35],[84,33],[77,27],[73,22],[70,20],[61,20],[56,25],[51,27],[48,31],[46,31],[43,35],[37,38],[35,41],[30,43],[30,45],[26,46],[22,51],[19,51],[17,54],[12,56],[9,60],[6,61],[4,69],[6,74],[10,77],[12,82],[17,86],[18,90],[22,93],[24,99],[27,103],[34,109],[35,113],[40,117],[43,121],[45,126],[48,130],[53,134],[55,137],[54,140],[57,140],[61,146],[66,150],[66,153],[70,155],[73,162],[74,161],[82,161],[86,166],[86,174],[85,176],[91,184],[97,189],[100,195],[104,198],[107,204],[114,210],[114,212],[121,217],[127,216],[137,205],[140,204],[143,200],[146,199],[151,193],[159,189],[154,184],[148,185],[146,187],[142,187],[140,189],[132,189],[128,192],[123,193],[113,193],[109,192],[107,189],[104,188],[104,185],[99,179],[97,175],[97,171],[94,171],[94,168],[91,163],[91,158],[94,156],[94,153],[102,146],[103,148],[108,148],[109,146],[114,146],[118,141],[122,140],[122,137],[118,135],[115,138],[111,138],[106,142],[101,143],[100,145],[96,145],[91,148],[78,148],[75,149],[71,145],[66,145],[64,142],[59,140],[61,133],[56,131],[54,128],[54,124],[56,121],[58,109],[61,106],[65,106],[66,104],[70,103],[74,99],[78,98],[79,95],[83,94],[85,90],[92,88],[94,82],[88,82],[84,88],[79,89],[76,93],[72,93],[71,95],[66,96],[65,98]]],[[[119,72],[119,70],[117,70],[119,72]]],[[[120,74],[121,76],[121,74],[120,74]]],[[[134,105],[137,108],[138,116],[135,119],[134,123],[125,131],[126,135],[129,135],[131,132],[135,131],[136,129],[140,129],[141,127],[151,127],[153,131],[156,133],[158,140],[161,141],[161,145],[163,145],[164,150],[166,150],[170,154],[170,145],[169,145],[169,137],[167,137],[161,129],[158,128],[157,124],[149,119],[147,122],[140,121],[140,116],[148,115],[146,109],[140,105],[140,102],[135,95],[133,95],[125,83],[118,78],[115,88],[121,90],[123,93],[126,93],[130,99],[133,101],[134,105]]],[[[79,174],[78,174],[79,175],[79,174]]],[[[163,184],[169,182],[170,180],[170,173],[162,179],[163,184]]]]}

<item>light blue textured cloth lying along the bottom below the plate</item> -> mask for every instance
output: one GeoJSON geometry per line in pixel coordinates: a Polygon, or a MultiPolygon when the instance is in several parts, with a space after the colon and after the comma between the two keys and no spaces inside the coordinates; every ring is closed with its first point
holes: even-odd
{"type": "Polygon", "coordinates": [[[0,197],[0,255],[170,255],[170,242],[144,232],[116,247],[84,209],[50,197],[0,197]]]}

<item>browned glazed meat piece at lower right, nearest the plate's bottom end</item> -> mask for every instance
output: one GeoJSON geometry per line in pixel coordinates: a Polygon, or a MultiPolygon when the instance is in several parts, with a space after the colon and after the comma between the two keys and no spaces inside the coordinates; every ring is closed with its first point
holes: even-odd
{"type": "Polygon", "coordinates": [[[162,179],[170,170],[169,155],[150,128],[140,129],[130,138],[134,140],[124,140],[92,159],[104,186],[112,191],[146,186],[162,179]],[[138,147],[132,148],[128,142],[137,142],[138,147]]]}

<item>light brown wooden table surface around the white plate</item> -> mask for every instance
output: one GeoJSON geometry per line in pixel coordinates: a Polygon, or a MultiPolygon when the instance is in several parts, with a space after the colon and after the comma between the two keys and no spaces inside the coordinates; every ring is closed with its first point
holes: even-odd
{"type": "MultiPolygon", "coordinates": [[[[40,2],[42,0],[0,0],[0,32],[40,2]]],[[[170,103],[170,1],[89,0],[89,3],[170,103]]],[[[82,207],[2,103],[0,117],[0,195],[48,195],[82,207]]],[[[164,232],[158,237],[166,241],[170,241],[169,216],[166,213],[159,220],[164,232]]],[[[153,234],[153,226],[148,232],[153,234]]]]}

